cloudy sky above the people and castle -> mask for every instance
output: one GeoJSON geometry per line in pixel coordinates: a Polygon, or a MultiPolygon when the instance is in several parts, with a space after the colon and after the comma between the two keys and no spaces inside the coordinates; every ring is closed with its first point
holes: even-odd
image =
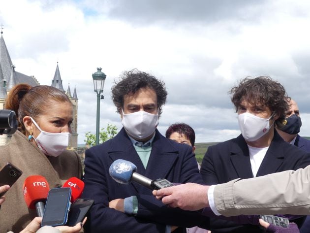
{"type": "Polygon", "coordinates": [[[111,87],[138,68],[166,83],[163,134],[185,122],[196,142],[237,136],[228,91],[269,75],[298,102],[310,136],[308,0],[0,0],[0,24],[17,71],[51,85],[59,62],[64,89],[76,86],[79,143],[95,133],[96,67],[107,75],[100,128],[121,129],[111,87]]]}

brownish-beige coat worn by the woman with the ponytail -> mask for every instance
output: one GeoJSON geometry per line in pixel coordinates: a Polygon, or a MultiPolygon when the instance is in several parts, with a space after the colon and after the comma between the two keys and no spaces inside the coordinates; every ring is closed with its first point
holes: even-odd
{"type": "Polygon", "coordinates": [[[44,176],[50,188],[61,186],[73,176],[82,178],[82,164],[76,153],[64,151],[59,157],[47,157],[19,131],[8,145],[0,147],[0,166],[7,162],[23,174],[5,194],[0,209],[0,233],[20,232],[36,216],[36,211],[29,210],[24,201],[23,183],[28,176],[44,176]]]}

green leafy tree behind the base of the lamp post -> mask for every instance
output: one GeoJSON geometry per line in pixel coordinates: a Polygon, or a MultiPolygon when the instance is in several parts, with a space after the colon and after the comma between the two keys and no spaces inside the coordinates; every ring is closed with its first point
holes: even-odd
{"type": "MultiPolygon", "coordinates": [[[[102,128],[99,132],[99,143],[103,143],[111,138],[113,138],[117,134],[117,127],[115,125],[110,125],[108,124],[107,129],[104,130],[102,128]]],[[[87,132],[85,133],[86,139],[84,141],[86,142],[87,145],[94,146],[96,144],[96,135],[87,132]]]]}

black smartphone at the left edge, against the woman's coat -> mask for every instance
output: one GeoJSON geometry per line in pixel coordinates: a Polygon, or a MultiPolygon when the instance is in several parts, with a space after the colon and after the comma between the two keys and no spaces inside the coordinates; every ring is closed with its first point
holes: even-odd
{"type": "MultiPolygon", "coordinates": [[[[16,166],[6,163],[6,165],[4,165],[0,170],[0,186],[7,184],[12,187],[15,181],[18,180],[22,174],[23,172],[16,166]]],[[[2,197],[5,193],[6,191],[0,193],[0,197],[2,197]]]]}

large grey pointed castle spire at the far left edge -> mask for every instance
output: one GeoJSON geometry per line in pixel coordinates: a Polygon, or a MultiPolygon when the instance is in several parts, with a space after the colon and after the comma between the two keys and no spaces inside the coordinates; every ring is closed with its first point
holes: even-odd
{"type": "MultiPolygon", "coordinates": [[[[0,36],[0,78],[6,78],[8,79],[10,77],[11,74],[11,67],[12,67],[12,60],[10,57],[10,54],[7,51],[2,33],[0,36]]],[[[6,80],[7,82],[9,80],[6,80]]]]}

